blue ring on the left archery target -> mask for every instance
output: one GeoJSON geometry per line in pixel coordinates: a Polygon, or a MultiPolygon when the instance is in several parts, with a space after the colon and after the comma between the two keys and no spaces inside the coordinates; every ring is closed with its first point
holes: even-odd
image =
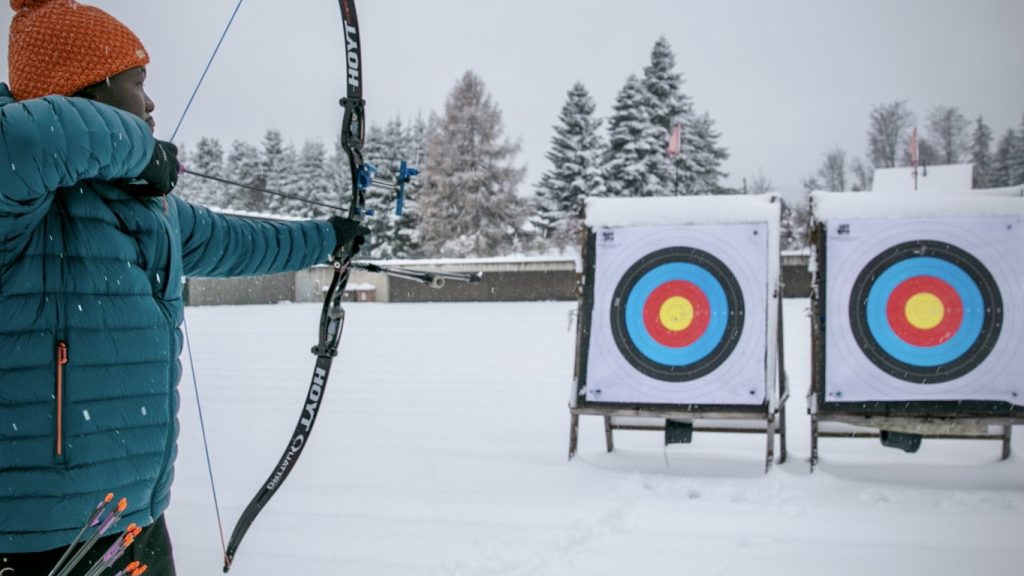
{"type": "Polygon", "coordinates": [[[699,362],[711,354],[722,340],[729,317],[729,300],[721,283],[708,271],[688,262],[662,264],[633,286],[626,299],[626,331],[633,344],[647,358],[666,366],[687,366],[699,362]],[[674,280],[685,280],[703,292],[711,308],[705,333],[692,344],[670,347],[655,340],[643,322],[643,307],[651,292],[674,280]]]}

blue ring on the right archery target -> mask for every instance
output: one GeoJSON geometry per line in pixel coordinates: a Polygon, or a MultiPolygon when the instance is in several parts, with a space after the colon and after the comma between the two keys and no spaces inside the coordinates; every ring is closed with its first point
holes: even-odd
{"type": "Polygon", "coordinates": [[[941,366],[966,354],[981,334],[985,302],[978,285],[959,266],[931,256],[901,260],[876,279],[867,293],[867,328],[882,348],[900,362],[914,366],[941,366]],[[964,304],[959,329],[936,346],[910,344],[896,335],[889,325],[887,304],[893,290],[919,276],[931,276],[949,284],[964,304]]]}

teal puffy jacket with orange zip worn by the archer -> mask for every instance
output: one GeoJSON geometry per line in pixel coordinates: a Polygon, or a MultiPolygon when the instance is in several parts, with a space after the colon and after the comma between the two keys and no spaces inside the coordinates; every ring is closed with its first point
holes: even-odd
{"type": "Polygon", "coordinates": [[[326,221],[127,194],[153,149],[127,113],[0,84],[0,552],[68,544],[108,492],[128,499],[122,526],[167,508],[182,276],[300,270],[334,249],[326,221]]]}

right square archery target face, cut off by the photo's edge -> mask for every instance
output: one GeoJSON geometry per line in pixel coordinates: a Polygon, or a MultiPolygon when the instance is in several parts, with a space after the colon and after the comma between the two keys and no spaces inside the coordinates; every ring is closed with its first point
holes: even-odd
{"type": "Polygon", "coordinates": [[[1021,221],[828,224],[828,401],[1020,404],[1021,221]]]}

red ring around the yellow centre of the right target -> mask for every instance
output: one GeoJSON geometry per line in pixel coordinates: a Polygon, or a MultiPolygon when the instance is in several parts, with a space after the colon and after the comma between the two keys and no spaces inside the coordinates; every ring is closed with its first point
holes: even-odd
{"type": "Polygon", "coordinates": [[[937,346],[951,338],[964,320],[964,303],[948,283],[934,276],[908,278],[893,289],[886,304],[886,316],[893,333],[915,346],[937,346]],[[938,299],[942,318],[934,326],[915,326],[908,318],[907,303],[915,297],[938,299]]]}

